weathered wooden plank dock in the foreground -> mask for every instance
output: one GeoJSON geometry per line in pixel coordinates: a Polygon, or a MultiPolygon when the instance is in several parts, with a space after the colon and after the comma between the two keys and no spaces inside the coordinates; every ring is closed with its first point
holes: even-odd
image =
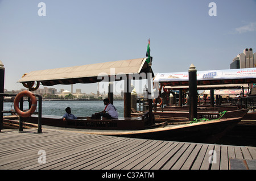
{"type": "Polygon", "coordinates": [[[37,133],[36,128],[0,132],[1,170],[254,170],[255,161],[256,148],[247,146],[143,140],[54,129],[43,129],[43,133],[37,133]]]}

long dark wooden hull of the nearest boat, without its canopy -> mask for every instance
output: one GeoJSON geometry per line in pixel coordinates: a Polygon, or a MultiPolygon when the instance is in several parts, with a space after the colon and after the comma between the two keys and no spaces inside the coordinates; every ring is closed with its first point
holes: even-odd
{"type": "MultiPolygon", "coordinates": [[[[142,118],[130,117],[129,119],[108,120],[86,120],[79,117],[80,119],[77,120],[63,121],[62,116],[42,115],[42,124],[43,127],[44,125],[52,126],[46,128],[66,129],[106,136],[214,143],[233,129],[242,119],[242,117],[233,117],[192,124],[168,125],[167,122],[163,122],[151,125],[148,124],[146,117],[143,119],[143,116],[142,118]]],[[[36,124],[38,116],[27,117],[24,121],[36,124]]]]}

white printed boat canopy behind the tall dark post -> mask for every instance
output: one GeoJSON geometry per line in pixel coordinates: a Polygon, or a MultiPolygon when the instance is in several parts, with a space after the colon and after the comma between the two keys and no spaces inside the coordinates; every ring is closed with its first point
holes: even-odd
{"type": "MultiPolygon", "coordinates": [[[[170,90],[188,89],[188,72],[158,73],[156,83],[170,90]]],[[[247,83],[256,83],[256,68],[197,71],[197,89],[201,90],[246,87],[247,83]]]]}

